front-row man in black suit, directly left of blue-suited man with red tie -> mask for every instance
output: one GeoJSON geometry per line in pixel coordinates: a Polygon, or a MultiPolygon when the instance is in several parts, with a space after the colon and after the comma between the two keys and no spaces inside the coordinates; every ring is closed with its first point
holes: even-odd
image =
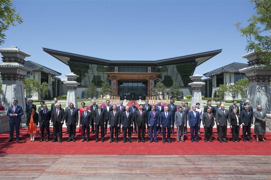
{"type": "Polygon", "coordinates": [[[145,128],[146,125],[148,123],[147,119],[146,119],[146,112],[143,110],[143,104],[139,104],[139,110],[136,111],[135,113],[135,121],[136,121],[136,125],[138,128],[138,136],[137,136],[137,140],[140,143],[140,141],[142,141],[143,143],[145,143],[145,128]]]}

